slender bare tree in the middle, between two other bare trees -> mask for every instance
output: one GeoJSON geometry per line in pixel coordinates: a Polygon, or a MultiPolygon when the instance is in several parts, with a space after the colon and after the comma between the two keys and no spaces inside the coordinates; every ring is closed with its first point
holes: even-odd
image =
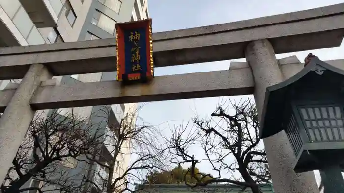
{"type": "Polygon", "coordinates": [[[106,137],[97,153],[87,156],[92,167],[85,176],[88,182],[85,193],[92,188],[95,192],[131,192],[134,183],[145,181],[146,174],[166,166],[166,149],[160,143],[160,132],[146,125],[137,116],[139,109],[133,108],[119,123],[114,123],[109,116],[111,112],[104,108],[108,115],[106,137]]]}

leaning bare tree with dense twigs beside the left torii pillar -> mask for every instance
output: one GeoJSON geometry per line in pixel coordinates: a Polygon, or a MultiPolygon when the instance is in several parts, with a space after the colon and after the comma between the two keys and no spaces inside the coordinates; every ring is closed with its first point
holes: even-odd
{"type": "Polygon", "coordinates": [[[1,186],[2,193],[27,190],[78,192],[82,185],[74,183],[72,176],[61,166],[93,153],[93,147],[99,144],[101,137],[97,129],[83,121],[73,112],[62,116],[56,110],[50,115],[36,116],[1,186]],[[40,185],[22,188],[32,179],[40,185]],[[46,185],[48,188],[42,188],[46,185]]]}

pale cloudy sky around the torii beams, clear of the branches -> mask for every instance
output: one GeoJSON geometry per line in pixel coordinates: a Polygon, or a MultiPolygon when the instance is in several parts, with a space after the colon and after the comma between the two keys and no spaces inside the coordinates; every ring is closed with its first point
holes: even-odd
{"type": "MultiPolygon", "coordinates": [[[[344,0],[148,0],[148,10],[153,22],[153,32],[161,32],[229,23],[342,2],[344,0]]],[[[322,60],[344,58],[342,43],[342,46],[337,48],[278,54],[277,59],[297,55],[299,60],[303,61],[309,52],[314,53],[322,60]]],[[[245,61],[245,59],[235,61],[245,61]]],[[[230,61],[220,61],[162,67],[156,69],[155,75],[225,70],[229,69],[229,63],[230,61]]],[[[240,99],[241,97],[232,96],[225,97],[225,99],[240,99]]],[[[144,121],[159,125],[164,129],[168,128],[168,124],[173,126],[174,124],[179,125],[182,121],[188,121],[196,114],[201,117],[209,116],[221,99],[216,97],[152,102],[140,110],[139,116],[144,121]]],[[[200,170],[208,172],[207,167],[200,168],[200,170]]]]}

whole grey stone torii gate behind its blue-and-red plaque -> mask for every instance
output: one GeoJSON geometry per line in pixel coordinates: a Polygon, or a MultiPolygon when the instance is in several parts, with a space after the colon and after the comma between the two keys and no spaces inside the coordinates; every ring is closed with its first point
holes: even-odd
{"type": "MultiPolygon", "coordinates": [[[[53,76],[116,70],[115,39],[0,48],[0,79],[21,79],[0,91],[0,181],[36,110],[254,94],[261,116],[267,86],[299,72],[295,57],[275,54],[340,46],[344,3],[191,29],[153,34],[155,67],[229,60],[229,70],[158,76],[149,84],[113,81],[58,85],[53,76]]],[[[344,68],[344,60],[327,61],[344,68]]],[[[114,77],[115,79],[115,77],[114,77]]],[[[312,172],[293,172],[285,132],[264,139],[276,193],[319,192],[312,172]]]]}

